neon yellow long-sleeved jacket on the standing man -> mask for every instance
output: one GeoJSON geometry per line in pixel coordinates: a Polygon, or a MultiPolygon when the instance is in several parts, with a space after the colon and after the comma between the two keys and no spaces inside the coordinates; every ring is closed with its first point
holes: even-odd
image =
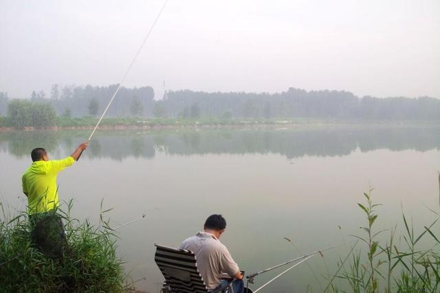
{"type": "Polygon", "coordinates": [[[30,214],[45,213],[58,206],[56,175],[74,162],[70,156],[63,160],[36,161],[23,173],[23,193],[28,195],[30,214]]]}

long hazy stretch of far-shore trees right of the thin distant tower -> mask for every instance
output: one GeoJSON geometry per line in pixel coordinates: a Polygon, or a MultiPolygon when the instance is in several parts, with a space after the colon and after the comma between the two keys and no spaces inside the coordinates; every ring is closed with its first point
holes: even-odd
{"type": "Polygon", "coordinates": [[[168,91],[162,106],[170,117],[334,118],[346,120],[440,120],[436,98],[358,98],[348,91],[289,88],[276,94],[168,91]]]}

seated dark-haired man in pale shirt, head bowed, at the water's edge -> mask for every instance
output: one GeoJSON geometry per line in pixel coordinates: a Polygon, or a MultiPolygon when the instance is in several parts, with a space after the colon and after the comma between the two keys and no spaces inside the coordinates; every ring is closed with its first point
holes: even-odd
{"type": "Polygon", "coordinates": [[[243,275],[239,266],[232,259],[228,248],[219,241],[220,236],[225,232],[226,220],[221,215],[210,215],[203,228],[203,232],[198,232],[197,235],[184,240],[179,248],[195,253],[197,268],[208,290],[212,291],[226,285],[227,281],[221,280],[221,277],[227,274],[234,278],[232,283],[234,293],[243,293],[243,275]]]}

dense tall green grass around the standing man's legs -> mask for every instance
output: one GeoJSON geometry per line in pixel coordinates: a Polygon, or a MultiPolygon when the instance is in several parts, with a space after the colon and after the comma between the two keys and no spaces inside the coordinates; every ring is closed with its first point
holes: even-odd
{"type": "Polygon", "coordinates": [[[0,292],[126,292],[115,235],[102,219],[105,211],[93,226],[70,217],[72,201],[67,212],[58,210],[68,250],[61,259],[50,259],[31,246],[28,215],[12,216],[3,205],[0,209],[0,292]]]}

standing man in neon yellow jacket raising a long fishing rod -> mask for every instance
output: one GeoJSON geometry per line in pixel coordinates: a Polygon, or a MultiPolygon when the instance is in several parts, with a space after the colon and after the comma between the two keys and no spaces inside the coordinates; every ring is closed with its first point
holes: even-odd
{"type": "Polygon", "coordinates": [[[49,257],[61,257],[67,245],[61,217],[54,213],[59,206],[56,176],[72,166],[87,145],[88,142],[80,144],[63,160],[49,160],[45,149],[33,149],[32,165],[21,178],[23,193],[28,197],[32,243],[49,257]]]}

